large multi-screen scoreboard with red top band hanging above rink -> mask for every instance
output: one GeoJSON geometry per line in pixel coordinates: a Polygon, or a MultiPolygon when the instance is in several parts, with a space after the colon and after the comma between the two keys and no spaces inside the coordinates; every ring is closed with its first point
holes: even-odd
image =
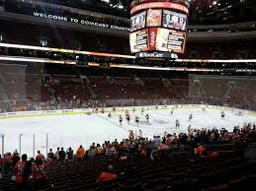
{"type": "Polygon", "coordinates": [[[130,10],[131,53],[184,54],[189,4],[185,0],[136,1],[130,10]]]}

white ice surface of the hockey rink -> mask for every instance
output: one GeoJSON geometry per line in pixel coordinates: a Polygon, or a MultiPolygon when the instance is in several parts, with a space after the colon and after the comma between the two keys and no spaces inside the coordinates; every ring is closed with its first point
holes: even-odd
{"type": "Polygon", "coordinates": [[[105,140],[121,141],[128,138],[128,130],[138,133],[141,129],[144,137],[152,138],[153,135],[168,133],[187,132],[187,127],[191,124],[192,128],[227,128],[230,131],[233,126],[243,126],[246,123],[255,123],[255,114],[237,115],[237,112],[226,111],[225,119],[221,120],[221,110],[201,108],[177,108],[170,115],[171,108],[152,109],[141,113],[137,109],[130,113],[130,124],[126,120],[125,111],[112,113],[98,113],[92,115],[73,114],[56,116],[34,116],[0,119],[0,134],[5,136],[5,152],[19,151],[19,135],[22,136],[22,153],[33,155],[33,135],[36,136],[36,151],[46,153],[46,134],[48,134],[48,149],[55,150],[57,147],[72,147],[74,150],[79,145],[86,148],[92,142],[102,144],[105,140]],[[149,123],[146,122],[145,114],[149,114],[149,123]],[[188,122],[190,113],[193,119],[188,122]],[[123,116],[123,125],[119,123],[119,115],[123,116]],[[139,125],[134,122],[134,116],[139,117],[139,125]],[[176,129],[175,120],[180,120],[181,127],[176,129]]]}

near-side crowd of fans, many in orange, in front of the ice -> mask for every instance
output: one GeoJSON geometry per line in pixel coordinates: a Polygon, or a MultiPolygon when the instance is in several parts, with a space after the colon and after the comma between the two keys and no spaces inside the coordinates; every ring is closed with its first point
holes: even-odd
{"type": "MultiPolygon", "coordinates": [[[[128,139],[118,142],[105,141],[104,144],[92,143],[87,150],[80,146],[76,152],[72,148],[66,151],[64,148],[57,148],[55,153],[52,149],[46,157],[39,151],[36,158],[28,159],[26,154],[20,156],[15,151],[13,154],[7,153],[0,156],[0,176],[11,175],[19,188],[29,188],[33,185],[43,184],[47,179],[47,166],[52,162],[63,164],[72,160],[85,160],[93,158],[128,159],[128,158],[151,158],[152,160],[171,157],[175,149],[185,149],[200,158],[217,158],[216,152],[208,152],[205,145],[230,144],[235,142],[256,141],[256,125],[244,124],[242,128],[234,127],[232,132],[226,129],[191,129],[188,127],[187,133],[169,134],[164,132],[164,136],[154,136],[153,139],[143,138],[142,131],[136,137],[132,131],[129,132],[128,139]]],[[[103,172],[98,181],[108,181],[116,178],[116,174],[103,172]]]]}

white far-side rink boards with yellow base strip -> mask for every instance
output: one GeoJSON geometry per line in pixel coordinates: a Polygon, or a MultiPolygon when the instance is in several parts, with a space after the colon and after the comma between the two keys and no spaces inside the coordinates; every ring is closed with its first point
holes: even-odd
{"type": "MultiPolygon", "coordinates": [[[[155,105],[148,105],[148,106],[127,106],[127,107],[116,107],[116,110],[113,111],[113,107],[105,107],[104,112],[112,112],[112,113],[123,113],[126,110],[129,112],[133,112],[133,108],[135,111],[141,111],[144,108],[144,112],[147,110],[171,110],[171,109],[203,109],[206,108],[207,110],[221,110],[224,112],[229,113],[238,113],[239,111],[242,112],[243,115],[246,116],[255,116],[256,112],[242,110],[232,107],[225,107],[225,106],[217,106],[217,105],[204,105],[204,104],[177,104],[177,105],[158,105],[156,108],[155,105]]],[[[19,117],[36,117],[36,116],[57,116],[57,115],[78,115],[78,114],[100,114],[102,113],[102,108],[99,108],[97,112],[93,112],[92,108],[82,108],[82,109],[59,109],[59,110],[36,110],[36,111],[18,111],[18,112],[5,112],[0,113],[0,119],[6,118],[19,118],[19,117]]]]}

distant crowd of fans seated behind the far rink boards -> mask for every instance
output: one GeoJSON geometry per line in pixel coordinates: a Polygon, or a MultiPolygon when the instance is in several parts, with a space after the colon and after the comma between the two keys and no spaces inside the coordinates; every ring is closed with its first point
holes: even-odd
{"type": "MultiPolygon", "coordinates": [[[[248,109],[247,105],[240,104],[240,101],[237,104],[233,102],[230,104],[224,103],[223,99],[208,99],[208,102],[205,102],[202,97],[191,97],[191,98],[179,98],[179,99],[124,99],[117,101],[116,104],[113,104],[112,100],[82,100],[77,96],[74,96],[73,99],[64,99],[56,100],[49,99],[46,101],[40,100],[7,100],[0,101],[0,113],[3,112],[17,112],[17,111],[34,111],[34,110],[56,110],[56,109],[76,109],[76,108],[104,108],[104,107],[124,107],[124,106],[147,106],[147,105],[159,105],[159,108],[165,107],[166,102],[168,104],[176,105],[179,104],[212,104],[219,106],[234,107],[240,109],[248,109]]],[[[252,106],[254,104],[251,104],[252,106]]],[[[158,107],[158,106],[157,106],[158,107]]]]}

